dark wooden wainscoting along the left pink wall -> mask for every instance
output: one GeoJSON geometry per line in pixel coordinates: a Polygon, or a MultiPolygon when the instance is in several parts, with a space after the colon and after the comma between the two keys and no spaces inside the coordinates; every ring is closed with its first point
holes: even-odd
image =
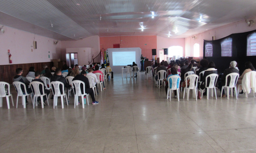
{"type": "Polygon", "coordinates": [[[0,81],[13,83],[13,77],[16,75],[16,69],[22,68],[23,77],[26,77],[29,67],[35,67],[35,71],[42,71],[43,66],[47,65],[49,69],[53,66],[53,62],[41,62],[41,63],[26,63],[26,64],[10,64],[10,65],[0,65],[0,81]]]}

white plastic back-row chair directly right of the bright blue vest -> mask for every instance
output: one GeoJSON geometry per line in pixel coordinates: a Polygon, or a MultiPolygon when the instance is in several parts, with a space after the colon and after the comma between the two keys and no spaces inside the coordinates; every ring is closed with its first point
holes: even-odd
{"type": "MultiPolygon", "coordinates": [[[[197,93],[196,93],[197,80],[198,80],[198,75],[196,75],[196,74],[190,74],[185,78],[184,81],[186,81],[186,87],[184,87],[183,99],[185,98],[185,92],[187,90],[187,101],[188,101],[190,89],[192,89],[192,91],[193,91],[193,97],[194,97],[194,95],[195,95],[195,97],[197,96],[197,93]],[[190,79],[189,86],[188,86],[188,82],[187,82],[188,79],[190,79]]],[[[197,97],[196,97],[196,100],[197,100],[197,97]]]]}

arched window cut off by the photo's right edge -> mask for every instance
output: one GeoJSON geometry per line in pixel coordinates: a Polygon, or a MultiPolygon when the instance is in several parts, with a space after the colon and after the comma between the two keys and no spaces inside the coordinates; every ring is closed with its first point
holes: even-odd
{"type": "Polygon", "coordinates": [[[247,56],[256,55],[256,32],[247,36],[247,56]]]}

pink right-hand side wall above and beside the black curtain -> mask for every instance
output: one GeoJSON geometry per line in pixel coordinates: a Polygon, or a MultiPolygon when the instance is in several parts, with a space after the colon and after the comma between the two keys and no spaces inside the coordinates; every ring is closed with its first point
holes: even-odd
{"type": "MultiPolygon", "coordinates": [[[[256,18],[256,16],[251,17],[247,20],[255,21],[255,18],[256,18]]],[[[223,25],[221,27],[196,34],[195,35],[197,37],[196,40],[193,40],[191,38],[191,36],[187,37],[187,38],[185,38],[185,55],[193,56],[194,55],[194,44],[198,43],[200,45],[200,56],[203,56],[204,40],[212,40],[212,36],[215,36],[215,39],[217,40],[217,39],[226,37],[232,33],[247,32],[247,31],[252,31],[255,29],[256,29],[256,24],[254,24],[251,27],[248,27],[245,20],[241,20],[241,21],[223,25]]]]}

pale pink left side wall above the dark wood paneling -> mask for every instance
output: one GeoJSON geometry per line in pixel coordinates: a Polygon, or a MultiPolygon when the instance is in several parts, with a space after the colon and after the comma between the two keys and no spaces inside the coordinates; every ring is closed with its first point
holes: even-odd
{"type": "Polygon", "coordinates": [[[33,33],[5,27],[5,33],[0,33],[0,65],[9,64],[8,49],[12,54],[12,64],[50,62],[61,56],[61,42],[54,45],[54,39],[35,35],[37,49],[33,46],[33,33]],[[31,52],[33,49],[33,52],[31,52]],[[50,52],[50,53],[48,53],[50,52]],[[50,55],[50,58],[48,58],[50,55]]]}

